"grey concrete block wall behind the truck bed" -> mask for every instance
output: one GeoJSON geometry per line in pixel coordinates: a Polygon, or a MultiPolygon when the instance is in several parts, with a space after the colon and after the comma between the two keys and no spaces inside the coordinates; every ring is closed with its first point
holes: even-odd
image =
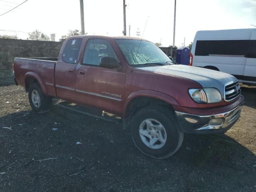
{"type": "Polygon", "coordinates": [[[12,69],[15,57],[58,57],[62,43],[0,39],[0,70],[12,69]]]}

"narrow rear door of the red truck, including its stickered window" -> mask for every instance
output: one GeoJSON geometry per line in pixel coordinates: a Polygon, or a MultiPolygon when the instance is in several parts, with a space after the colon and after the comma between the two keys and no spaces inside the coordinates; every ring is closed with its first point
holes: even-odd
{"type": "Polygon", "coordinates": [[[76,98],[76,66],[81,38],[68,40],[55,67],[55,86],[58,98],[73,101],[76,98]]]}

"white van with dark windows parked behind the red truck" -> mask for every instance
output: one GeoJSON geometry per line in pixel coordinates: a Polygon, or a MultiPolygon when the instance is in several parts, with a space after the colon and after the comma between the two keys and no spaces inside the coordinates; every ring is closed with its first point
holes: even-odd
{"type": "Polygon", "coordinates": [[[196,32],[190,65],[226,72],[243,84],[256,85],[256,28],[196,32]]]}

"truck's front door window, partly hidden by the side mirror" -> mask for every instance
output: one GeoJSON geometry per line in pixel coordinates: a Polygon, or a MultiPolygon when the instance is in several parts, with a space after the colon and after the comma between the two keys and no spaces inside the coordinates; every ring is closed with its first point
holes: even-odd
{"type": "Polygon", "coordinates": [[[100,66],[100,58],[110,56],[117,59],[110,42],[103,39],[90,39],[84,50],[82,64],[100,66]]]}

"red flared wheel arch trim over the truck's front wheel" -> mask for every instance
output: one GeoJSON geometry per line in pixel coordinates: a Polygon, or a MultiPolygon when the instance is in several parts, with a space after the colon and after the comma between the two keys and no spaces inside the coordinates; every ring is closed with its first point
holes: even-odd
{"type": "Polygon", "coordinates": [[[164,94],[162,92],[158,92],[158,91],[153,91],[153,90],[138,90],[135,92],[132,92],[125,101],[124,104],[124,111],[123,111],[123,117],[126,116],[126,108],[128,106],[128,104],[130,103],[130,101],[132,101],[132,99],[136,98],[136,97],[141,97],[141,96],[145,96],[145,97],[151,97],[151,98],[155,98],[155,99],[159,99],[162,100],[170,105],[176,105],[179,106],[180,103],[174,99],[172,96],[164,94]]]}

